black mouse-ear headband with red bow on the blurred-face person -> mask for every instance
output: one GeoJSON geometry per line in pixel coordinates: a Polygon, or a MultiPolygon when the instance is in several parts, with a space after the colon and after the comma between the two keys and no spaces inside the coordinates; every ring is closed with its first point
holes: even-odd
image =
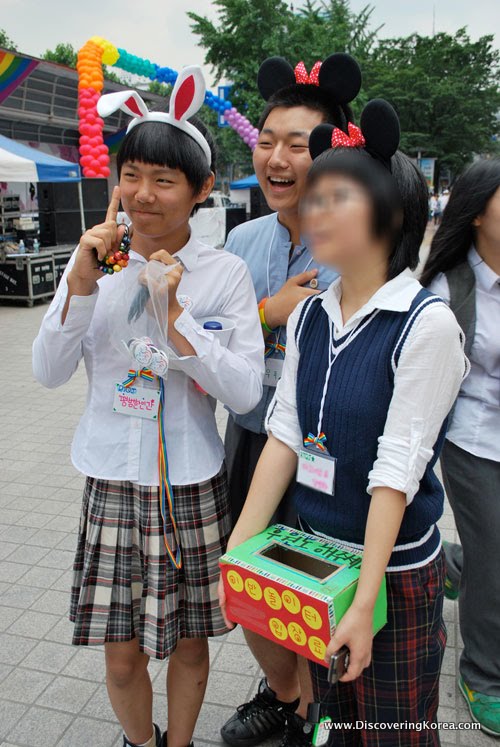
{"type": "Polygon", "coordinates": [[[330,148],[362,148],[391,171],[391,158],[399,146],[398,115],[384,99],[373,99],[361,114],[360,126],[349,122],[348,134],[329,124],[314,128],[309,138],[311,157],[330,148]]]}

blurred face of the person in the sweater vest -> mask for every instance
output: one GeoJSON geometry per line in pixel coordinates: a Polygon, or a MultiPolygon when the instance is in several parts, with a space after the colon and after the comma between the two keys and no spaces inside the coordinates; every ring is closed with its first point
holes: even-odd
{"type": "Polygon", "coordinates": [[[371,201],[353,179],[340,174],[320,177],[302,202],[301,216],[316,262],[342,272],[373,254],[371,201]]]}

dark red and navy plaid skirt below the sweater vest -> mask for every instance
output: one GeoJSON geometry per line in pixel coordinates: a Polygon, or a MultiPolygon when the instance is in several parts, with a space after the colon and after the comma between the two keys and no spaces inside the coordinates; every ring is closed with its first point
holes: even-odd
{"type": "Polygon", "coordinates": [[[353,682],[330,686],[327,668],[309,662],[314,699],[334,722],[332,747],[440,744],[436,728],[423,725],[436,723],[446,646],[443,553],[422,568],[386,573],[386,583],[387,624],[373,639],[370,666],[353,682]]]}

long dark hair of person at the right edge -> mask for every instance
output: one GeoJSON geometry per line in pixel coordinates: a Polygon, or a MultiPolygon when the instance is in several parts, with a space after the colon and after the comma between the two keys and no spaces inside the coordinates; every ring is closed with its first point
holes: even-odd
{"type": "Polygon", "coordinates": [[[422,285],[466,261],[475,238],[474,219],[484,213],[499,187],[500,158],[476,161],[459,177],[432,240],[422,285]]]}

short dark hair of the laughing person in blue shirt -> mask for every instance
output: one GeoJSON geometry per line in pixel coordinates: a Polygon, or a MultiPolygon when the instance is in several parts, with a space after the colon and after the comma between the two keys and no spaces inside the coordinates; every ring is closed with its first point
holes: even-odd
{"type": "Polygon", "coordinates": [[[347,122],[352,122],[353,119],[350,106],[335,104],[332,101],[332,95],[319,88],[319,86],[292,85],[282,88],[269,98],[266,108],[260,115],[257,129],[259,132],[263,129],[266,119],[273,109],[280,107],[292,109],[296,106],[305,106],[307,109],[320,112],[323,115],[324,122],[333,124],[342,130],[345,130],[347,122]]]}

